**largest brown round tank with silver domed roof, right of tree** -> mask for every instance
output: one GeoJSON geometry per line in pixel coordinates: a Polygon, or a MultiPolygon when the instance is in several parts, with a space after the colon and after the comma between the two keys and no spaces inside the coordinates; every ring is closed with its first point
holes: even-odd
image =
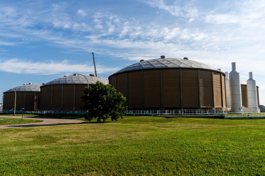
{"type": "Polygon", "coordinates": [[[188,58],[141,60],[109,76],[130,109],[226,108],[225,74],[188,58]]]}

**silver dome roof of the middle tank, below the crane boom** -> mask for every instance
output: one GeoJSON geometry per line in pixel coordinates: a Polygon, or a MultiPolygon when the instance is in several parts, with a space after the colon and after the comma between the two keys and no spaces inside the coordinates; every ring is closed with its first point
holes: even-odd
{"type": "Polygon", "coordinates": [[[95,76],[88,76],[86,77],[82,75],[73,75],[73,76],[64,76],[50,82],[47,82],[44,85],[53,85],[53,84],[87,84],[87,80],[89,84],[96,83],[97,81],[103,82],[104,84],[108,84],[108,80],[95,77],[95,76]]]}

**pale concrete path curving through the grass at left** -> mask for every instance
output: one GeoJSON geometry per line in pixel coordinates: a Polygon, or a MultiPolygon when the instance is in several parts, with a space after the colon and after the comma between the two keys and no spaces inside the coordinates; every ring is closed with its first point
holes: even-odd
{"type": "MultiPolygon", "coordinates": [[[[5,116],[0,115],[0,118],[20,118],[21,116],[5,116]]],[[[50,126],[50,125],[63,125],[63,124],[79,124],[84,122],[83,120],[76,119],[64,119],[64,118],[45,118],[45,117],[24,117],[25,119],[36,119],[42,120],[43,122],[31,123],[31,124],[14,124],[14,125],[0,125],[0,129],[6,128],[24,128],[24,127],[40,127],[40,126],[50,126]]]]}

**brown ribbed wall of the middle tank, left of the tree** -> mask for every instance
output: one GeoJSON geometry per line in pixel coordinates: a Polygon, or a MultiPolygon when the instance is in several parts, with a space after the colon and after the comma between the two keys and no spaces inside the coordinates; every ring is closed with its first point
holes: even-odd
{"type": "Polygon", "coordinates": [[[41,110],[81,110],[85,103],[81,96],[87,84],[59,84],[41,86],[41,110]]]}

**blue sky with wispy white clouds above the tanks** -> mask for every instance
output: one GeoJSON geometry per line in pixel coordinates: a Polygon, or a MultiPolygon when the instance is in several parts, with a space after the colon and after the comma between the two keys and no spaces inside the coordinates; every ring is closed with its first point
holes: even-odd
{"type": "MultiPolygon", "coordinates": [[[[265,104],[265,0],[0,1],[0,91],[141,59],[188,57],[248,72],[265,104]]],[[[0,97],[2,99],[2,97],[0,97]]]]}

